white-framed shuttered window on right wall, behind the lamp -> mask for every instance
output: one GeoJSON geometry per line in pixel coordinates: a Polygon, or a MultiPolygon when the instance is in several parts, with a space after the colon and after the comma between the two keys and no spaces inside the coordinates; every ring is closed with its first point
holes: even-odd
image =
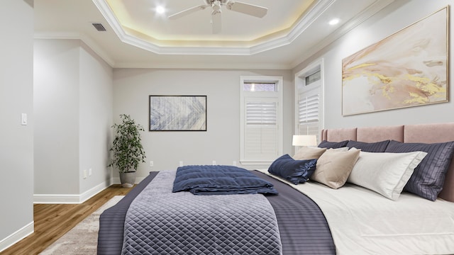
{"type": "Polygon", "coordinates": [[[321,62],[295,75],[297,135],[316,135],[319,140],[322,127],[321,62]]]}

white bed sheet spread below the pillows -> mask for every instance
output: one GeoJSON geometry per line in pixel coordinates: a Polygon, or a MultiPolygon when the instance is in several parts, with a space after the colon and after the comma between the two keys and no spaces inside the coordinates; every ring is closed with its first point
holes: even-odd
{"type": "Polygon", "coordinates": [[[394,201],[350,183],[337,190],[311,181],[289,185],[319,205],[337,254],[454,254],[452,202],[405,192],[394,201]]]}

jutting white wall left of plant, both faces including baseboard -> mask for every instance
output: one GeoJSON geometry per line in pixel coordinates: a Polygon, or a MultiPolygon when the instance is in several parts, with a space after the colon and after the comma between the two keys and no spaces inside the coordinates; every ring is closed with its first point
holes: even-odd
{"type": "Polygon", "coordinates": [[[37,39],[34,55],[35,202],[79,203],[111,180],[112,68],[80,40],[37,39]]]}

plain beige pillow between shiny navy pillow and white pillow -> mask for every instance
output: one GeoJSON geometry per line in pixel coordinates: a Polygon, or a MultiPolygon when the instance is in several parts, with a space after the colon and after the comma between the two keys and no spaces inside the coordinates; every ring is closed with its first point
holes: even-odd
{"type": "Polygon", "coordinates": [[[360,149],[352,148],[347,152],[328,149],[317,160],[317,167],[311,180],[331,188],[341,188],[355,166],[360,149]]]}

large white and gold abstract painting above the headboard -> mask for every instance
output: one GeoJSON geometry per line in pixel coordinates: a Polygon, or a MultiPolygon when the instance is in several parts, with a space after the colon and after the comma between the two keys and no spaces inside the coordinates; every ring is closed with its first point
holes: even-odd
{"type": "Polygon", "coordinates": [[[342,60],[342,114],[448,102],[448,8],[342,60]]]}

